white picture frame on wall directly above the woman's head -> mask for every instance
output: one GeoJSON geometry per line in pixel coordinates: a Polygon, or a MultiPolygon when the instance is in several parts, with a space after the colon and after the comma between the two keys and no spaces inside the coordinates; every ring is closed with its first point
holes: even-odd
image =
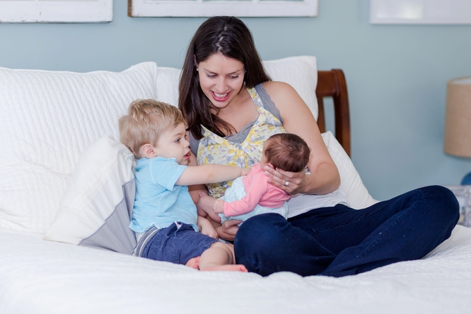
{"type": "Polygon", "coordinates": [[[128,0],[130,17],[316,17],[319,0],[128,0]]]}

